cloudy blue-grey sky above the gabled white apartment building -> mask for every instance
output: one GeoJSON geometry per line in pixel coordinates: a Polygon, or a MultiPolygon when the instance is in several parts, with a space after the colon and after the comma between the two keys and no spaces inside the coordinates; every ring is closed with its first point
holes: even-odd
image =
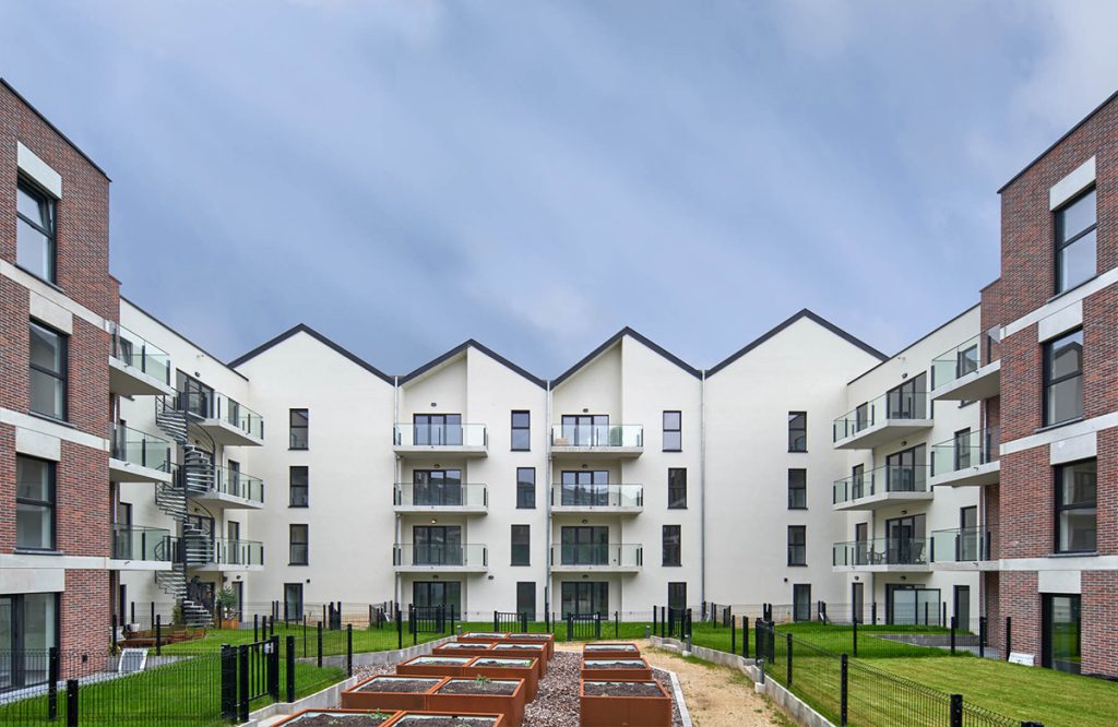
{"type": "Polygon", "coordinates": [[[121,292],[230,359],[304,322],[551,377],[802,308],[893,352],[998,274],[996,190],[1118,87],[1118,4],[7,0],[0,75],[112,177],[121,292]]]}

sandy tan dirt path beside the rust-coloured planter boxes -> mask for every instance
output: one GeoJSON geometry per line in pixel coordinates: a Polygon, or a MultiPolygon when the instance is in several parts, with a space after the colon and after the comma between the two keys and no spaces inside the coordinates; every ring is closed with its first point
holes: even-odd
{"type": "MultiPolygon", "coordinates": [[[[754,691],[745,674],[729,667],[688,660],[637,641],[653,667],[674,671],[695,727],[784,727],[794,725],[779,708],[754,691]]],[[[577,643],[557,643],[557,651],[580,651],[577,643]]]]}

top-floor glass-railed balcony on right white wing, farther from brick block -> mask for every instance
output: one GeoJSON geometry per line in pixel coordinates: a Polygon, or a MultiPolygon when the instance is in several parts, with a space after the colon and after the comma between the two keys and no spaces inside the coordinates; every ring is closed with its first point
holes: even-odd
{"type": "Polygon", "coordinates": [[[831,435],[836,450],[872,450],[931,425],[927,393],[889,393],[835,419],[831,435]]]}

